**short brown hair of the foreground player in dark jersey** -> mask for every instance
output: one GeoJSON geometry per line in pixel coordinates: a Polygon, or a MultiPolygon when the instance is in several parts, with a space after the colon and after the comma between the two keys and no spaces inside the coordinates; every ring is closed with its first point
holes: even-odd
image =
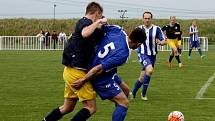
{"type": "Polygon", "coordinates": [[[99,11],[101,13],[103,13],[103,8],[102,6],[97,3],[97,2],[90,2],[88,5],[87,5],[87,8],[86,8],[86,13],[85,14],[94,14],[96,11],[99,11]]]}

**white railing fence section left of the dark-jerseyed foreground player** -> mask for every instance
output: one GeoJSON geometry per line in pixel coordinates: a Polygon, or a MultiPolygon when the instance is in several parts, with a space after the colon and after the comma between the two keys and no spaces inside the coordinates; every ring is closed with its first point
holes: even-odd
{"type": "Polygon", "coordinates": [[[63,50],[66,38],[0,36],[0,50],[63,50]]]}

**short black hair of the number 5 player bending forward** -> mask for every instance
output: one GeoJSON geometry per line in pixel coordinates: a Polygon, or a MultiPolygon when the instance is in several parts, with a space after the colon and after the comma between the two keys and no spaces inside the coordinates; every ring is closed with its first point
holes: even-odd
{"type": "Polygon", "coordinates": [[[129,35],[129,39],[135,43],[143,43],[146,38],[146,33],[141,28],[135,28],[129,35]]]}

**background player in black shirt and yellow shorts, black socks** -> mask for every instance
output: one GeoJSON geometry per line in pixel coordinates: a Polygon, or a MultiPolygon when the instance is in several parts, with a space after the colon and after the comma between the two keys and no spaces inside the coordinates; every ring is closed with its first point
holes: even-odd
{"type": "Polygon", "coordinates": [[[181,41],[178,41],[178,38],[181,36],[181,30],[180,25],[176,23],[176,17],[170,16],[170,23],[164,26],[162,30],[166,34],[167,44],[172,49],[168,60],[169,67],[172,67],[172,59],[175,56],[176,60],[178,61],[178,66],[181,68],[182,63],[178,52],[179,45],[181,45],[181,41]]]}

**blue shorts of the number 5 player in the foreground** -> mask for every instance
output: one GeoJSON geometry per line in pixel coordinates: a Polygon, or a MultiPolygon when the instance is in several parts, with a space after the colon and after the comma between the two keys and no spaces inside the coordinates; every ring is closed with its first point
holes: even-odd
{"type": "Polygon", "coordinates": [[[112,99],[120,92],[122,92],[121,88],[114,80],[105,85],[93,86],[93,88],[102,100],[112,99]]]}

